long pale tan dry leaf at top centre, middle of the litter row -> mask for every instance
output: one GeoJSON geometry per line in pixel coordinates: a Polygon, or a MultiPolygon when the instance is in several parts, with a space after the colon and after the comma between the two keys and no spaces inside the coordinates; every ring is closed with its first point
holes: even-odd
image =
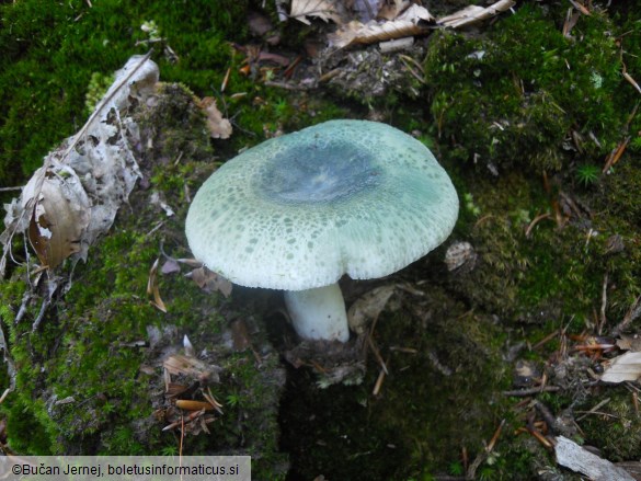
{"type": "Polygon", "coordinates": [[[376,42],[402,38],[420,35],[427,31],[425,22],[432,22],[434,18],[427,9],[412,4],[399,18],[391,22],[350,22],[334,34],[328,35],[330,46],[344,48],[353,44],[373,44],[376,42]]]}

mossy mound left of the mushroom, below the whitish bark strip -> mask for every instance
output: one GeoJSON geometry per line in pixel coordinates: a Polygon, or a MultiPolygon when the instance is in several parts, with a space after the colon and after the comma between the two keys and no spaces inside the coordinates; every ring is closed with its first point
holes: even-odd
{"type": "Polygon", "coordinates": [[[110,234],[90,249],[88,263],[76,266],[70,289],[55,296],[37,331],[32,323],[39,291],[26,305],[22,322],[13,322],[27,288],[20,280],[26,271],[15,268],[15,282],[0,285],[18,370],[16,389],[1,406],[9,444],[26,454],[131,455],[175,448],[179,439],[162,433],[164,424],[157,419],[169,406],[161,364],[187,334],[222,368],[220,383],[211,387],[215,396],[225,400],[234,393],[237,402],[225,408],[213,435],[187,437],[183,453],[247,453],[259,479],[281,479],[286,457],[278,450],[276,405],[283,380],[264,330],[257,323],[251,339],[256,354],[225,347],[227,319],[237,317],[238,308],[182,275],[158,278],[167,313],[148,300],[149,270],[161,257],[159,245],[179,257],[187,255],[184,186],[199,184],[198,175],[214,167],[202,162],[210,159],[211,146],[193,94],[165,84],[158,95],[137,116],[142,141],[154,146],[139,159],[149,190],[131,194],[110,234]],[[188,156],[176,163],[180,152],[188,156]],[[168,218],[150,202],[154,191],[175,216],[168,218]],[[170,334],[161,335],[158,345],[141,345],[152,331],[170,334]]]}

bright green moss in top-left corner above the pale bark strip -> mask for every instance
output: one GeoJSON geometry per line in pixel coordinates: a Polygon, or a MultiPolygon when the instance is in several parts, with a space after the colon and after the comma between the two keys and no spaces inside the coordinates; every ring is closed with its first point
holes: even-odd
{"type": "Polygon", "coordinates": [[[91,79],[111,75],[129,56],[149,49],[140,30],[147,21],[157,23],[164,39],[153,45],[163,79],[210,93],[225,76],[228,42],[245,36],[239,25],[245,25],[247,5],[245,0],[2,4],[0,182],[20,184],[53,145],[79,128],[91,79]],[[167,45],[178,61],[163,56],[167,45]]]}

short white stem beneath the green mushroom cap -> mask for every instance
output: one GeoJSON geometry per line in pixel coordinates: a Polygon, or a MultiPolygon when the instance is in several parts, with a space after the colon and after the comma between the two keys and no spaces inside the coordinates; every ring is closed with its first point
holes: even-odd
{"type": "Polygon", "coordinates": [[[300,337],[341,342],[350,339],[345,301],[339,284],[306,290],[286,290],[285,305],[300,337]]]}

